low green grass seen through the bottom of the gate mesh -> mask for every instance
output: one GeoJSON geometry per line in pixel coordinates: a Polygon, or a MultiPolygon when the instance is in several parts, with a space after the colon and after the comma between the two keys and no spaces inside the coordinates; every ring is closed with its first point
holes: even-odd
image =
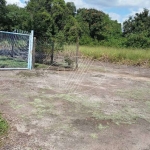
{"type": "Polygon", "coordinates": [[[27,62],[16,58],[0,56],[0,68],[27,68],[27,62]]]}

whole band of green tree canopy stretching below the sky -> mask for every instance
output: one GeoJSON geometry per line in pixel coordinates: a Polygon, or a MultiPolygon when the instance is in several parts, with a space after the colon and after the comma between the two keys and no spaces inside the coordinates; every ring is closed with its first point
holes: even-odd
{"type": "Polygon", "coordinates": [[[130,16],[121,24],[96,9],[76,9],[64,0],[29,0],[26,7],[7,5],[0,0],[0,30],[34,30],[37,38],[47,37],[66,43],[80,37],[82,45],[142,47],[150,46],[148,9],[130,16]]]}

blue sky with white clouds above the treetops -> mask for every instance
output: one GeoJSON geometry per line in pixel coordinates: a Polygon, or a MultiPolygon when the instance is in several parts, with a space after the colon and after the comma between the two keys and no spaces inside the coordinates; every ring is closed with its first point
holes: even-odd
{"type": "MultiPolygon", "coordinates": [[[[7,4],[25,6],[25,0],[6,0],[7,4]]],[[[77,8],[95,8],[108,14],[112,20],[123,23],[134,16],[135,13],[143,11],[143,8],[150,10],[150,0],[65,0],[74,2],[77,8]]]]}

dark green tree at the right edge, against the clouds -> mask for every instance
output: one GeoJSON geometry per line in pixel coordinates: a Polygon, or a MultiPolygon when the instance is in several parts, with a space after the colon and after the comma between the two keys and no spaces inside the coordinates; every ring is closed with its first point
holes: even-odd
{"type": "Polygon", "coordinates": [[[150,15],[149,10],[144,9],[135,16],[130,16],[123,23],[123,35],[127,38],[127,47],[150,47],[150,15]]]}

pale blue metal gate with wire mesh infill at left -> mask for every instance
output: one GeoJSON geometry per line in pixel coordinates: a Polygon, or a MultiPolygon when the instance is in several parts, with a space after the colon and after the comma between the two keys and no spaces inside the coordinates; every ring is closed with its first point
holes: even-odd
{"type": "Polygon", "coordinates": [[[0,31],[0,70],[32,69],[33,31],[0,31]]]}

